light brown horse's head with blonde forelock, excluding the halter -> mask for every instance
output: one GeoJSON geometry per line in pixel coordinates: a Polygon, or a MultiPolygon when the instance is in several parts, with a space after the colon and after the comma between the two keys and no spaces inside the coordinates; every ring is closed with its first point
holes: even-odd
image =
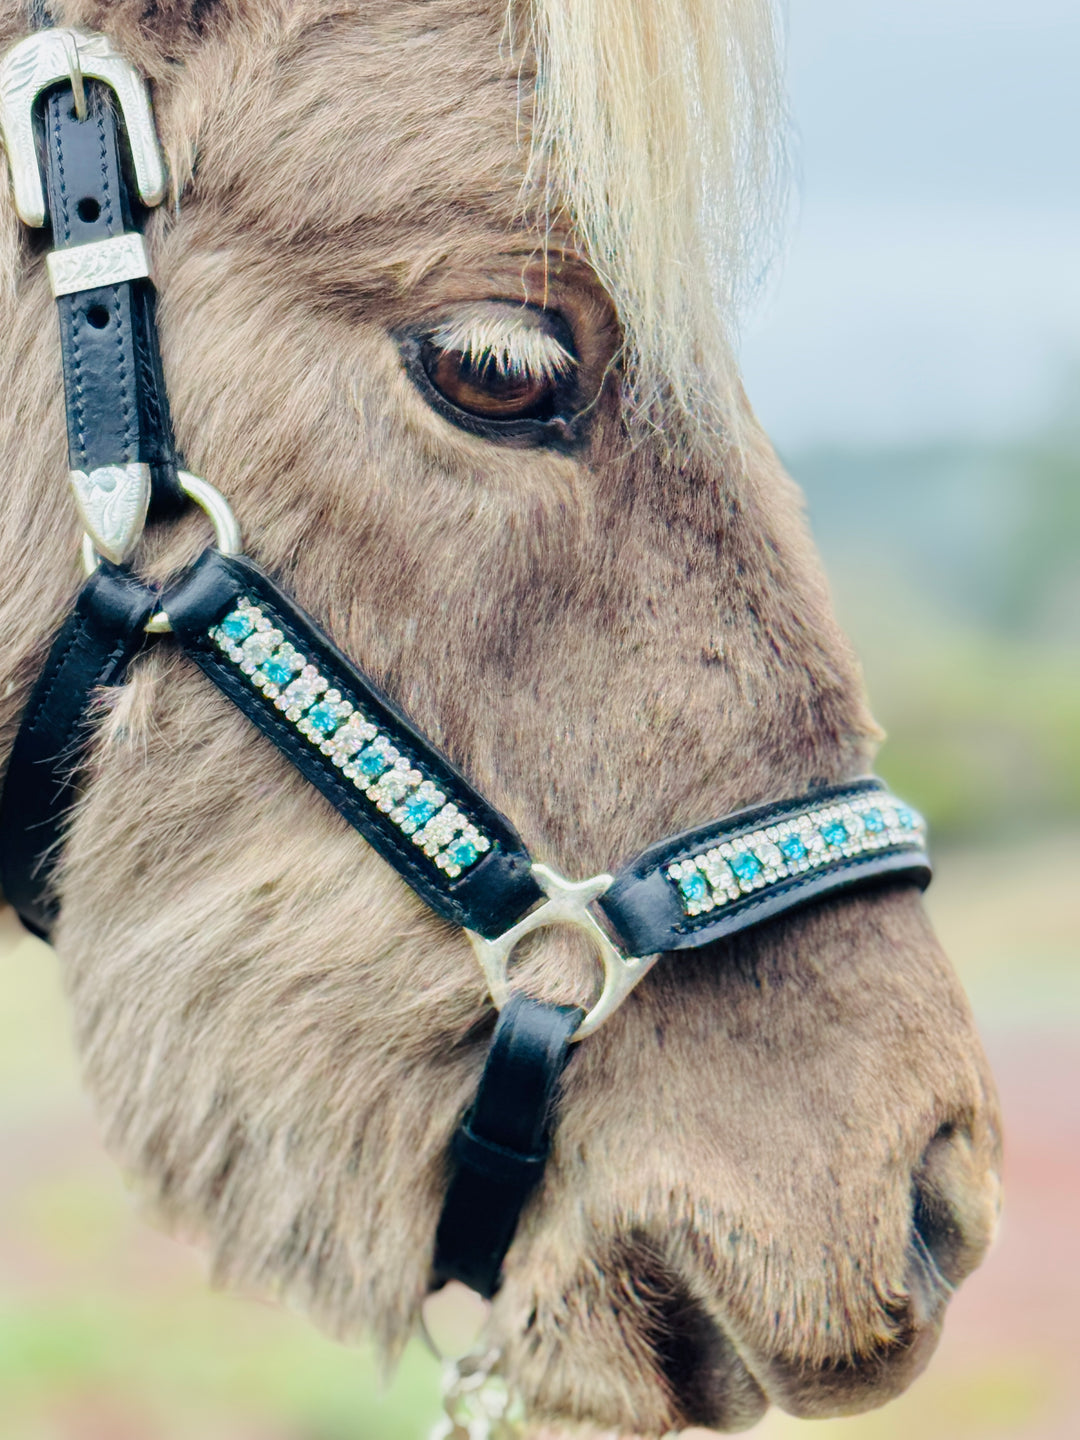
{"type": "MultiPolygon", "coordinates": [[[[567,876],[881,739],[740,387],[783,206],[770,0],[53,0],[153,88],[186,464],[567,876]]],[[[29,29],[0,4],[0,49],[29,29]]],[[[81,585],[43,242],[0,204],[0,753],[81,585]]],[[[206,543],[151,526],[161,583],[206,543]]],[[[102,694],[53,943],[107,1145],[220,1284],[393,1359],[491,1037],[432,914],[168,642],[102,694]]],[[[582,937],[514,984],[576,1004],[582,937]]],[[[491,1316],[534,1426],[737,1430],[926,1365],[999,1204],[917,890],[664,956],[566,1070],[491,1316]]]]}

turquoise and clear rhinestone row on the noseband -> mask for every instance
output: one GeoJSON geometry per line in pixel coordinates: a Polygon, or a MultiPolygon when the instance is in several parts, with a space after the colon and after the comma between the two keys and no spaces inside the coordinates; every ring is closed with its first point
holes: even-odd
{"type": "Polygon", "coordinates": [[[855,796],[795,815],[668,865],[687,914],[706,914],[792,876],[890,845],[926,847],[926,822],[891,795],[855,796]]]}

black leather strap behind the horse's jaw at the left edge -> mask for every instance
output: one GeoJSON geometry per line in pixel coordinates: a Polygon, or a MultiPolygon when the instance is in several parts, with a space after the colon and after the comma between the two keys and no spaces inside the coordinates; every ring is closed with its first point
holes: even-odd
{"type": "Polygon", "coordinates": [[[56,917],[50,878],[94,693],[124,681],[156,603],[153,590],[102,564],[63,622],[23,713],[0,798],[0,884],[36,935],[48,936],[56,917]]]}

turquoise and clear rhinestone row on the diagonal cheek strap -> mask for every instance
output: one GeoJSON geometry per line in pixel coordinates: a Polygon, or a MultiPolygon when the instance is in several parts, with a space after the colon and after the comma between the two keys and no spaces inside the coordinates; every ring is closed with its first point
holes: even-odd
{"type": "Polygon", "coordinates": [[[491,850],[488,837],[389,734],[308,664],[258,605],[239,600],[213,626],[210,639],[449,880],[491,850]]]}

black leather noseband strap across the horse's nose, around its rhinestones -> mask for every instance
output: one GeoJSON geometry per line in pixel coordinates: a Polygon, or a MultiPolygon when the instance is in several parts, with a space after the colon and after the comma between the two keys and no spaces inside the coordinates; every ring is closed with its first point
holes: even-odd
{"type": "MultiPolygon", "coordinates": [[[[773,842],[783,845],[785,837],[776,834],[769,841],[773,842]]],[[[930,874],[919,818],[894,801],[880,780],[865,779],[814,791],[793,801],[757,805],[649,845],[618,873],[598,906],[626,953],[655,955],[710,945],[811,900],[858,886],[894,878],[924,888],[930,883],[930,874]],[[763,832],[768,829],[799,818],[809,821],[821,812],[842,809],[848,804],[855,814],[867,812],[867,805],[871,805],[873,814],[881,819],[884,828],[870,832],[876,848],[858,852],[858,837],[865,838],[867,831],[858,818],[852,818],[848,821],[850,834],[845,837],[841,831],[835,845],[822,844],[816,854],[811,852],[801,861],[780,857],[779,874],[772,880],[768,878],[765,865],[760,865],[760,873],[753,877],[755,888],[746,894],[698,914],[687,913],[678,883],[671,877],[672,865],[707,851],[716,852],[746,837],[765,840],[763,832]],[[906,824],[886,825],[883,815],[887,819],[897,811],[906,824]]],[[[706,887],[704,878],[701,886],[706,887]]]]}

